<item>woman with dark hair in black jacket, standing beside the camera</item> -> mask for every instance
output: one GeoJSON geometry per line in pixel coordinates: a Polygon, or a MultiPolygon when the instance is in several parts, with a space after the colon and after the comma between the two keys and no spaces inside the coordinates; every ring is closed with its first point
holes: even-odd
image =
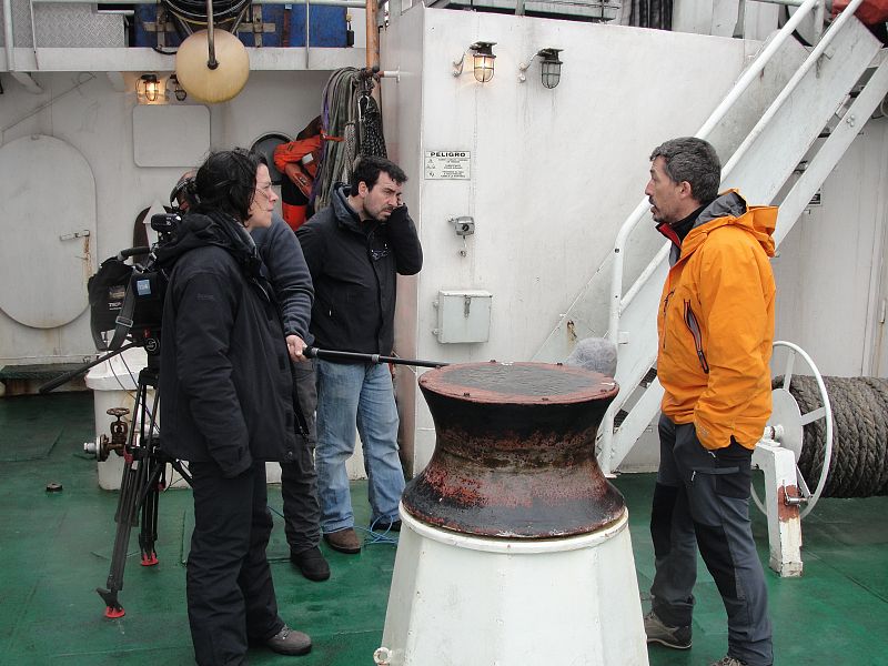
{"type": "Polygon", "coordinates": [[[302,655],[311,638],[279,617],[265,557],[265,461],[292,462],[304,436],[280,315],[249,233],[271,224],[278,196],[264,159],[240,149],[211,154],[189,186],[192,205],[158,261],[170,271],[161,438],[193,477],[194,655],[201,665],[245,664],[248,643],[302,655]]]}

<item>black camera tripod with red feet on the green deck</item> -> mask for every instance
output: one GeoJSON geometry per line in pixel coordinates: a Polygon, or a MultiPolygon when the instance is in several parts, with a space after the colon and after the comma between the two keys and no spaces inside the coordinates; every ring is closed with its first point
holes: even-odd
{"type": "MultiPolygon", "coordinates": [[[[118,599],[118,592],[123,589],[123,568],[127,565],[130,533],[139,522],[141,522],[139,532],[141,564],[142,566],[158,564],[158,555],[154,551],[154,543],[158,539],[158,501],[160,492],[167,487],[167,465],[171,465],[185,482],[191,483],[191,475],[182,463],[167,455],[161,447],[158,425],[160,359],[157,351],[148,349],[147,351],[148,365],[139,373],[132,427],[130,427],[123,447],[124,465],[118,508],[114,514],[118,529],[111,555],[111,569],[108,573],[105,588],[95,588],[105,603],[105,617],[111,618],[124,615],[123,607],[118,599]],[[153,389],[153,395],[149,394],[151,389],[153,389]]],[[[123,413],[123,411],[115,411],[117,415],[123,413]]]]}

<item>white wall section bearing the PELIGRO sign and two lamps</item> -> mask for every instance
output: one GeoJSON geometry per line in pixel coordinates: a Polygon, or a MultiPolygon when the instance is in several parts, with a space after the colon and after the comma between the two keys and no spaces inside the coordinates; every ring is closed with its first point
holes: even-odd
{"type": "MultiPolygon", "coordinates": [[[[384,89],[385,110],[422,115],[416,134],[414,124],[397,123],[394,153],[420,180],[418,200],[415,182],[407,192],[412,210],[418,203],[426,253],[415,350],[460,362],[533,356],[642,198],[650,150],[703,123],[748,48],[739,40],[422,6],[400,18],[383,47],[383,67],[405,72],[401,84],[384,89]],[[485,85],[475,82],[471,60],[453,75],[452,61],[477,40],[497,42],[496,74],[485,85]],[[544,47],[564,49],[554,90],[542,87],[538,62],[518,81],[518,63],[544,47]],[[404,85],[420,67],[422,85],[404,85]],[[471,151],[472,180],[422,180],[417,160],[425,150],[471,151]],[[476,222],[465,258],[447,224],[454,215],[476,222]],[[487,343],[437,342],[433,302],[443,289],[493,293],[487,343]]],[[[415,472],[431,456],[434,431],[422,397],[414,404],[415,472]]]]}

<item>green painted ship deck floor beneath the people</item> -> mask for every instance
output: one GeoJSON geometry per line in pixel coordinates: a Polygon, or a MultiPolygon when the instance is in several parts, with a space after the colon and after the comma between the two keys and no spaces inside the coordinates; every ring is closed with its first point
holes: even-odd
{"type": "MultiPolygon", "coordinates": [[[[121,592],[127,615],[107,619],[94,588],[108,576],[117,493],[99,488],[95,462],[82,453],[82,443],[92,437],[89,393],[0,400],[0,664],[191,664],[181,562],[190,493],[162,495],[161,562],[145,568],[138,556],[129,558],[121,592]],[[61,483],[63,491],[47,493],[50,482],[61,483]]],[[[624,475],[615,483],[629,506],[638,584],[646,596],[654,477],[624,475]]],[[[352,492],[359,523],[365,524],[366,485],[355,483],[352,492]]],[[[269,502],[280,511],[274,486],[269,502]]],[[[281,615],[312,635],[314,649],[300,658],[256,649],[251,664],[371,666],[385,620],[394,546],[373,544],[359,556],[327,552],[331,579],[310,583],[291,568],[283,526],[275,521],[269,556],[281,615]]],[[[766,524],[758,515],[755,532],[767,562],[766,524]]],[[[131,552],[138,549],[135,536],[131,552]]],[[[888,665],[888,498],[821,500],[805,521],[804,537],[805,575],[768,575],[775,664],[888,665]]],[[[694,648],[653,646],[652,666],[706,666],[725,653],[725,614],[707,575],[696,593],[694,648]]],[[[466,658],[465,666],[488,666],[466,658]]]]}

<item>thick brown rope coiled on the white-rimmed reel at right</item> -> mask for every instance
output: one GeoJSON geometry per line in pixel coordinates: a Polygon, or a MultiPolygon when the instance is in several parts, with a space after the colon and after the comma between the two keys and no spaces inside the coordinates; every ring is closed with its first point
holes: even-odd
{"type": "MultiPolygon", "coordinates": [[[[888,495],[888,380],[877,377],[824,377],[833,405],[833,457],[823,497],[888,495]]],[[[774,389],[783,386],[775,377],[774,389]]],[[[801,414],[821,406],[817,381],[793,375],[789,393],[801,414]]],[[[798,468],[814,488],[824,468],[826,421],[805,426],[798,468]]]]}

